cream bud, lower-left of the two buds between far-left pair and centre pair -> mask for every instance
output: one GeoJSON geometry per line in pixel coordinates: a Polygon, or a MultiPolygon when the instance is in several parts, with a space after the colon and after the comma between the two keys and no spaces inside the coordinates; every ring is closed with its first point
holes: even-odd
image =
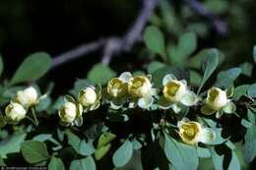
{"type": "Polygon", "coordinates": [[[72,123],[76,119],[77,113],[78,113],[78,108],[76,104],[72,102],[66,102],[59,109],[59,117],[61,121],[66,123],[72,123]]]}

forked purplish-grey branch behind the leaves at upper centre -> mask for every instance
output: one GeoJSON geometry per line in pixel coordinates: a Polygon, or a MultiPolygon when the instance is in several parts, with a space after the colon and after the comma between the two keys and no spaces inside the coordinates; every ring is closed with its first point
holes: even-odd
{"type": "Polygon", "coordinates": [[[94,42],[83,44],[75,49],[71,49],[59,56],[55,56],[51,69],[54,69],[66,62],[85,56],[93,51],[104,47],[102,63],[109,64],[111,58],[119,52],[128,51],[138,41],[142,39],[142,30],[147,24],[149,17],[158,4],[158,0],[143,0],[143,7],[136,18],[134,24],[122,37],[110,36],[94,42]]]}

